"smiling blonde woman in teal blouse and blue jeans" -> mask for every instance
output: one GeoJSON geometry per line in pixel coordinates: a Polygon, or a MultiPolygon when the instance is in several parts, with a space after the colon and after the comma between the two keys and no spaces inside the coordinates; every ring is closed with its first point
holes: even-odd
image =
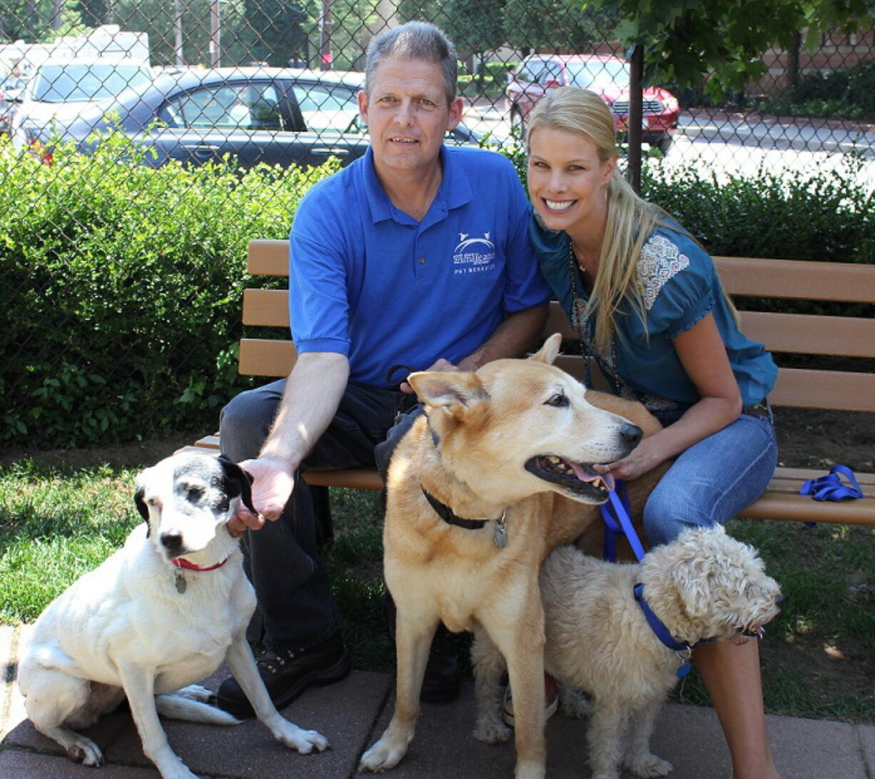
{"type": "MultiPolygon", "coordinates": [[[[557,88],[530,116],[530,229],[544,277],[614,391],[663,425],[606,468],[633,479],[676,458],[645,511],[653,546],[725,523],[766,488],[777,460],[767,401],[777,368],[739,332],[711,257],[634,193],[617,157],[613,116],[593,92],[557,88]]],[[[757,642],[703,645],[694,658],[735,779],[774,779],[757,642]]]]}

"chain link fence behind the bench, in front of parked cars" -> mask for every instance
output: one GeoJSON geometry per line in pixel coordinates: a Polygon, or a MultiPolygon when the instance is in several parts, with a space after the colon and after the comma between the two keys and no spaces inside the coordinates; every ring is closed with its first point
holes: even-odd
{"type": "MultiPolygon", "coordinates": [[[[626,130],[622,20],[581,5],[0,0],[0,446],[214,424],[242,386],[246,242],[283,237],[306,188],[364,153],[356,93],[386,27],[425,19],[455,42],[465,119],[449,143],[519,162],[528,111],[561,84],[600,92],[626,130]]],[[[835,169],[865,199],[875,35],[797,43],[721,105],[646,85],[648,167],[711,181],[835,169]]]]}

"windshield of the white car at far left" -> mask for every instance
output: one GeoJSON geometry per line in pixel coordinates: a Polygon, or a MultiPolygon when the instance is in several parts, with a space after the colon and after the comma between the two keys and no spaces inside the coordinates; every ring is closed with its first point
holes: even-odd
{"type": "Polygon", "coordinates": [[[41,66],[34,77],[32,95],[42,102],[91,102],[115,97],[151,80],[151,68],[143,65],[66,62],[41,66]]]}

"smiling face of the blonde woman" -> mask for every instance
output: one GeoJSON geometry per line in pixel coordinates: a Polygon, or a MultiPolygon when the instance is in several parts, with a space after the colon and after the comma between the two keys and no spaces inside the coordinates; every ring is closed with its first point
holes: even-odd
{"type": "Polygon", "coordinates": [[[616,166],[616,157],[602,162],[596,144],[576,132],[539,127],[528,137],[528,195],[550,229],[598,227],[616,166]]]}

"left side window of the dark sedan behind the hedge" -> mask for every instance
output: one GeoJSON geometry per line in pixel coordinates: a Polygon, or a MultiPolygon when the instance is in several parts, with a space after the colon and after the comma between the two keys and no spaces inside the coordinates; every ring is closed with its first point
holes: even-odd
{"type": "Polygon", "coordinates": [[[162,112],[171,127],[190,130],[284,130],[273,84],[217,84],[176,95],[162,112]]]}

